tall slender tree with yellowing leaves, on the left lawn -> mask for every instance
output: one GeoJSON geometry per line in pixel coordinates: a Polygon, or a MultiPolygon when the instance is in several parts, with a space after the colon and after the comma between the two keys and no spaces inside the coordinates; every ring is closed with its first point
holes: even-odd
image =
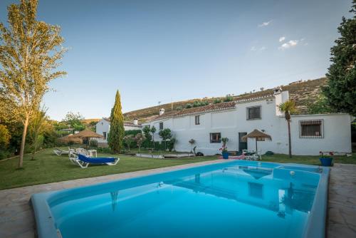
{"type": "Polygon", "coordinates": [[[23,123],[19,168],[31,115],[37,110],[48,82],[64,76],[56,71],[66,49],[59,26],[36,20],[38,0],[21,0],[8,7],[6,28],[0,23],[0,100],[13,105],[11,113],[23,123]]]}

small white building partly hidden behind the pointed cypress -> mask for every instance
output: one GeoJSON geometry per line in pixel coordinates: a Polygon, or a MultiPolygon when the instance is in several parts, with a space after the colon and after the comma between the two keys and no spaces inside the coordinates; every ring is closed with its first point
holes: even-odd
{"type": "MultiPolygon", "coordinates": [[[[104,138],[98,138],[99,145],[108,144],[108,135],[110,132],[110,118],[103,118],[96,123],[96,133],[103,135],[104,138]]],[[[134,119],[133,122],[124,122],[125,130],[141,130],[142,125],[138,123],[137,119],[134,119]]]]}

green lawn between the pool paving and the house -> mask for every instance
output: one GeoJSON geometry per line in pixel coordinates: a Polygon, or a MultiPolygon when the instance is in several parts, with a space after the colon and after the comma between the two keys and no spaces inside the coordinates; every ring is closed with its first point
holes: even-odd
{"type": "MultiPolygon", "coordinates": [[[[216,156],[187,157],[178,159],[151,159],[134,157],[130,155],[108,155],[98,156],[120,157],[120,162],[115,166],[97,165],[81,169],[73,165],[68,160],[68,155],[57,156],[53,154],[53,149],[46,149],[36,155],[36,160],[31,161],[26,155],[23,160],[23,170],[17,170],[18,159],[14,158],[0,162],[0,190],[11,187],[23,187],[28,185],[38,185],[48,182],[58,182],[74,180],[83,177],[95,177],[100,175],[110,175],[122,172],[132,172],[137,170],[148,170],[157,167],[167,167],[182,165],[192,162],[215,160],[216,156]]],[[[293,156],[287,155],[263,156],[266,162],[295,162],[311,165],[319,165],[318,156],[293,156]]],[[[335,162],[356,164],[356,154],[352,157],[335,157],[335,162]]]]}

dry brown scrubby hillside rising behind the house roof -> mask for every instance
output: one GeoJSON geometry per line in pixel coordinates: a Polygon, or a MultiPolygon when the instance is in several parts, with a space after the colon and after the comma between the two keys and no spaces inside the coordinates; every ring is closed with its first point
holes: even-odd
{"type": "MultiPolygon", "coordinates": [[[[320,94],[320,87],[324,86],[326,83],[326,78],[318,78],[315,80],[308,80],[308,81],[296,81],[290,83],[288,86],[282,86],[283,90],[289,91],[289,96],[291,99],[295,100],[296,104],[298,105],[298,109],[301,114],[306,113],[307,105],[310,102],[315,101],[320,94]]],[[[277,87],[277,86],[276,86],[277,87]]],[[[260,90],[254,93],[244,93],[241,95],[234,95],[235,100],[241,100],[246,98],[255,98],[260,97],[263,95],[270,95],[273,94],[273,88],[268,88],[265,90],[260,90]]],[[[224,97],[221,97],[221,99],[224,97]]],[[[194,103],[196,100],[207,100],[209,103],[212,103],[216,98],[195,98],[191,100],[182,100],[179,102],[173,103],[173,110],[178,107],[183,107],[187,105],[187,103],[194,103]]],[[[124,113],[125,120],[133,120],[133,118],[138,118],[140,122],[144,122],[150,120],[151,118],[158,115],[159,108],[164,108],[166,112],[172,110],[171,103],[162,104],[155,107],[150,108],[142,108],[140,110],[133,110],[128,113],[124,113]]]]}

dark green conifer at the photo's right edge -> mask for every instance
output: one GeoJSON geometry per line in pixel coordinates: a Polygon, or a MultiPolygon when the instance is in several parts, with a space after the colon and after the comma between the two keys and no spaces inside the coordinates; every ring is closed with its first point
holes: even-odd
{"type": "Polygon", "coordinates": [[[326,74],[328,84],[323,93],[331,108],[356,116],[356,0],[352,1],[350,12],[354,16],[351,19],[342,16],[337,28],[341,36],[331,48],[332,64],[326,74]]]}

